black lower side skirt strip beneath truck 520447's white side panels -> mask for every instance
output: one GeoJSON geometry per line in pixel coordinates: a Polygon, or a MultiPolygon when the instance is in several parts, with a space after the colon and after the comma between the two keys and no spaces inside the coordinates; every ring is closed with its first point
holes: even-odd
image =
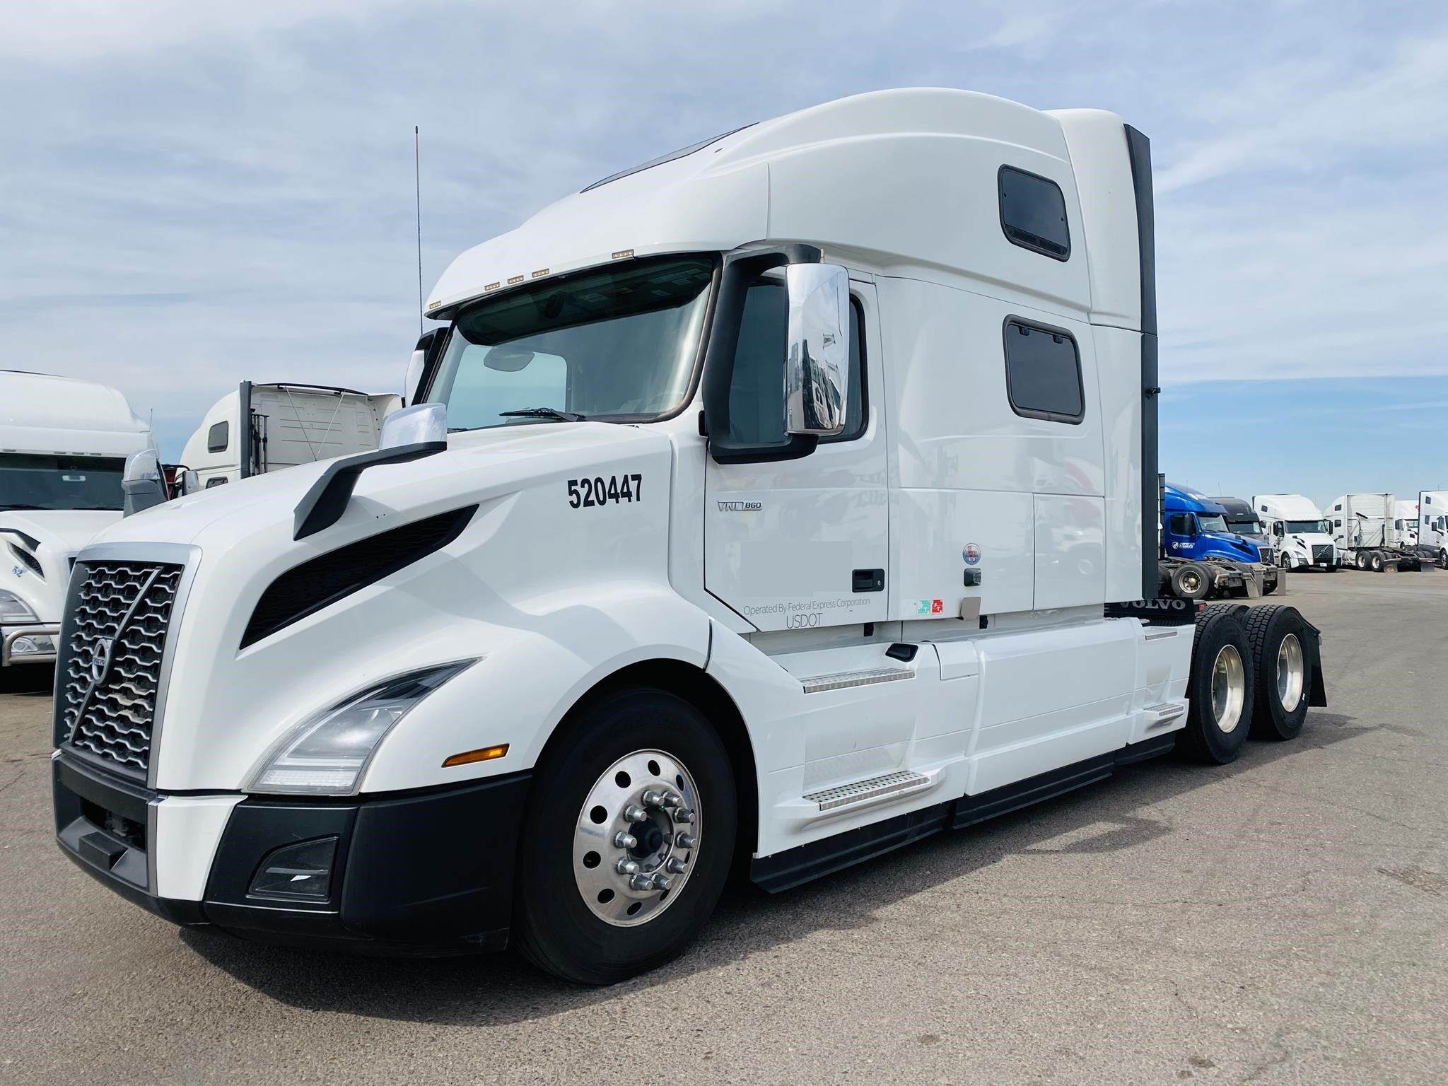
{"type": "Polygon", "coordinates": [[[788,849],[775,856],[762,856],[750,863],[749,877],[769,893],[779,893],[893,851],[946,827],[959,830],[1038,804],[1043,799],[1074,792],[1077,788],[1105,780],[1116,766],[1129,766],[1134,762],[1145,762],[1150,757],[1166,754],[1173,746],[1176,746],[1174,731],[1154,736],[1114,753],[1053,769],[1048,773],[1038,773],[980,795],[948,799],[934,807],[825,837],[822,841],[801,844],[798,849],[788,849]]]}

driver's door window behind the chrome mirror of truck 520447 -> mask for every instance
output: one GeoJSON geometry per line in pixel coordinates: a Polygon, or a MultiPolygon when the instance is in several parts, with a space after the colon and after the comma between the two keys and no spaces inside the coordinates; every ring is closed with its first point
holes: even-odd
{"type": "MultiPolygon", "coordinates": [[[[730,384],[730,437],[744,445],[783,445],[785,434],[785,340],[789,336],[785,285],[762,279],[744,295],[744,316],[734,350],[730,384]]],[[[850,392],[844,432],[821,437],[820,443],[849,442],[864,433],[869,400],[864,390],[864,317],[850,298],[850,392]]]]}

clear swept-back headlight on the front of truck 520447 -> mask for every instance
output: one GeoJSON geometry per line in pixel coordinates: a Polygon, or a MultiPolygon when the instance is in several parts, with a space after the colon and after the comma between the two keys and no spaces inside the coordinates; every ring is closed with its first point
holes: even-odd
{"type": "Polygon", "coordinates": [[[355,795],[372,752],[392,725],[473,663],[459,660],[400,675],[308,717],[268,752],[246,791],[355,795]]]}

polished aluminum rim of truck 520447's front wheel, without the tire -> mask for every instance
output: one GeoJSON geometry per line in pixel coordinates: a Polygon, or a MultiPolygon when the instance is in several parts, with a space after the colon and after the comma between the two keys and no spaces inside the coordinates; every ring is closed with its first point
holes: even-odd
{"type": "Polygon", "coordinates": [[[636,750],[604,770],[578,812],[573,877],[584,904],[621,928],[678,901],[694,870],[701,809],[694,776],[662,750],[636,750]]]}

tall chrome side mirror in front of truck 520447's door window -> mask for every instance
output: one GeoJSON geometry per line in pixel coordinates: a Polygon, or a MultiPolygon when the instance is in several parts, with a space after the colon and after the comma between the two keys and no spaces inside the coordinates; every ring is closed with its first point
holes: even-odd
{"type": "Polygon", "coordinates": [[[785,432],[844,433],[850,404],[850,272],[833,264],[791,264],[785,358],[785,432]]]}

